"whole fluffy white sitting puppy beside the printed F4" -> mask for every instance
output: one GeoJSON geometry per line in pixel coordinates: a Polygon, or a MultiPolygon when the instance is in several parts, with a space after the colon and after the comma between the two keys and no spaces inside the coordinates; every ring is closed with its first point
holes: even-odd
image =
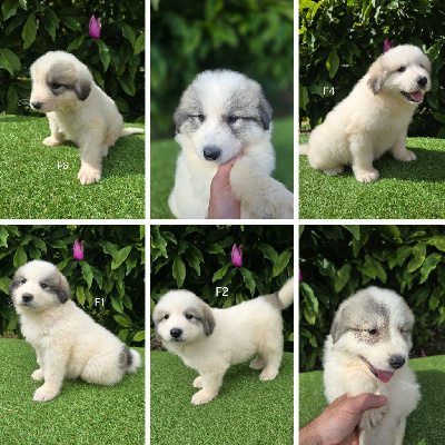
{"type": "Polygon", "coordinates": [[[299,154],[330,176],[352,166],[360,182],[378,179],[373,160],[385,151],[398,160],[415,160],[405,147],[406,135],[414,111],[431,89],[429,73],[431,62],[419,48],[392,48],[315,128],[299,154]]]}

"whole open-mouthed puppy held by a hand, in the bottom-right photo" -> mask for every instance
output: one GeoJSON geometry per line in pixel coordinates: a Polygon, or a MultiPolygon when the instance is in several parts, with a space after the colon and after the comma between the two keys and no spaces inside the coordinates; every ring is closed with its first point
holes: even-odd
{"type": "Polygon", "coordinates": [[[368,287],[340,304],[324,357],[329,403],[345,393],[385,395],[387,405],[359,422],[360,445],[402,445],[406,417],[421,398],[408,367],[414,315],[393,290],[368,287]]]}

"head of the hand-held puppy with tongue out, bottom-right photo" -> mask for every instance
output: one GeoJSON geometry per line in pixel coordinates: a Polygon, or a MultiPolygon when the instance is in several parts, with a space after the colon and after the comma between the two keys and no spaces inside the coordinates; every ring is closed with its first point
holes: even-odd
{"type": "Polygon", "coordinates": [[[339,306],[330,328],[333,350],[356,356],[389,382],[408,360],[413,325],[414,315],[400,296],[369,287],[339,306]]]}

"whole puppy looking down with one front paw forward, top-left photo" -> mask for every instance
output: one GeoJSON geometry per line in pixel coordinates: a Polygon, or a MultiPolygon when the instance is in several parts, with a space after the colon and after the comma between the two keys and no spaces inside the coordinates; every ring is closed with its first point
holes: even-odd
{"type": "Polygon", "coordinates": [[[93,81],[80,60],[65,51],[49,51],[31,65],[31,107],[46,112],[51,136],[49,147],[65,138],[79,146],[80,184],[98,182],[102,158],[121,136],[141,134],[140,128],[122,128],[116,103],[93,81]]]}

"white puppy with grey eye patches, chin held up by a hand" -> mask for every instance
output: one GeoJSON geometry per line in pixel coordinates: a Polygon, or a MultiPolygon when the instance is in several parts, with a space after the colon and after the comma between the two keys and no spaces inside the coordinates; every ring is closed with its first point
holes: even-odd
{"type": "Polygon", "coordinates": [[[294,195],[270,177],[271,108],[261,87],[229,71],[204,71],[186,89],[175,111],[178,157],[168,204],[177,218],[206,218],[218,166],[240,157],[230,186],[241,218],[293,218],[294,195]]]}

